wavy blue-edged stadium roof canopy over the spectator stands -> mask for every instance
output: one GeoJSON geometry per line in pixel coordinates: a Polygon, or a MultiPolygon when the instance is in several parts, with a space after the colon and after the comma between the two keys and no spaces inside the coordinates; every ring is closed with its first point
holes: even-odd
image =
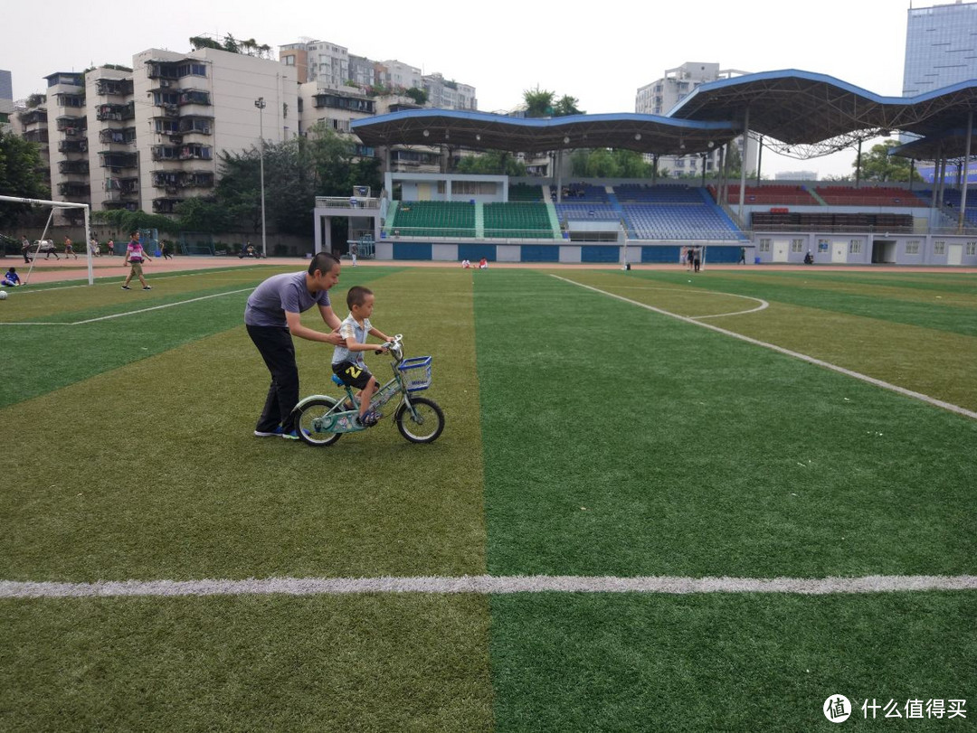
{"type": "MultiPolygon", "coordinates": [[[[447,143],[512,152],[623,147],[683,155],[737,137],[747,109],[749,129],[763,135],[766,146],[811,158],[895,131],[935,139],[965,130],[968,113],[977,109],[977,80],[915,97],[882,97],[832,76],[786,69],[703,84],[665,117],[621,113],[524,119],[416,109],[357,120],[352,130],[367,145],[447,143]]],[[[962,155],[962,143],[958,146],[962,155]]],[[[934,157],[928,151],[909,153],[934,157]]],[[[953,156],[953,151],[944,154],[953,156]]]]}

